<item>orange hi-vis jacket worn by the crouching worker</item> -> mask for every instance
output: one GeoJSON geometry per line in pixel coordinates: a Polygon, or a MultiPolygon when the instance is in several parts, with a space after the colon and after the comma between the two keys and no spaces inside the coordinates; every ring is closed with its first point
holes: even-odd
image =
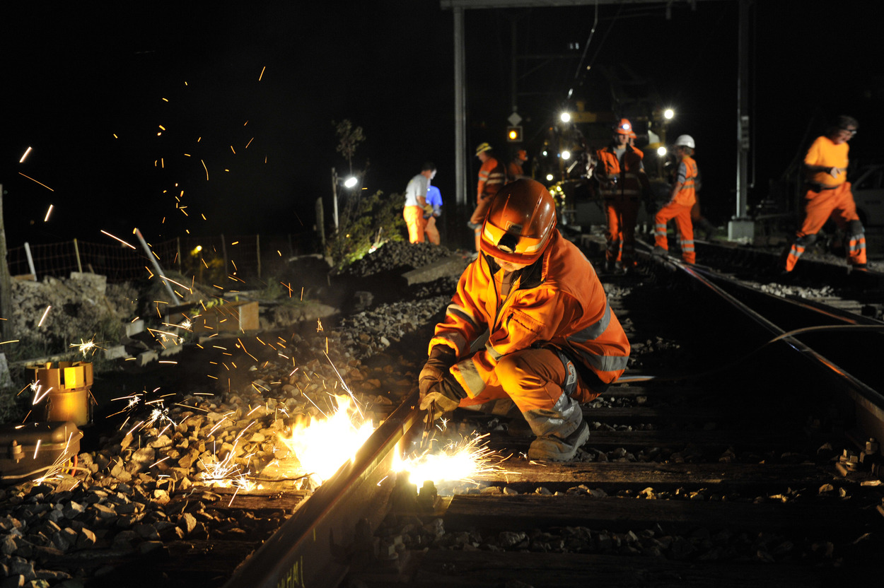
{"type": "Polygon", "coordinates": [[[591,263],[558,230],[541,260],[539,275],[516,277],[503,299],[484,255],[461,275],[430,350],[447,345],[457,353],[451,373],[469,397],[499,384],[494,369],[500,358],[532,346],[565,351],[606,384],[626,370],[629,340],[591,263]],[[470,344],[485,328],[484,349],[469,356],[470,344]]]}

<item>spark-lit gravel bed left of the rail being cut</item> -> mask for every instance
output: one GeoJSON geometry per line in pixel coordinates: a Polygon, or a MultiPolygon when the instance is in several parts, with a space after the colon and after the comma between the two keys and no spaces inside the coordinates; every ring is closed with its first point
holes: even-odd
{"type": "MultiPolygon", "coordinates": [[[[214,396],[158,390],[156,398],[130,399],[118,430],[101,439],[102,449],[80,453],[72,475],[58,471],[0,490],[0,574],[17,582],[11,585],[82,586],[95,575],[125,577],[126,562],[176,540],[264,539],[278,523],[226,515],[216,507],[228,497],[221,501],[212,486],[260,484],[268,464],[285,476],[279,464],[290,456],[280,438],[295,423],[322,418],[332,395],[347,394],[345,384],[376,424],[416,386],[418,368],[408,358],[385,355],[376,367],[355,358],[341,343],[365,340],[354,329],[293,333],[273,343],[272,360],[234,357],[244,374],[214,396]]],[[[368,348],[386,349],[369,336],[368,348]]]]}

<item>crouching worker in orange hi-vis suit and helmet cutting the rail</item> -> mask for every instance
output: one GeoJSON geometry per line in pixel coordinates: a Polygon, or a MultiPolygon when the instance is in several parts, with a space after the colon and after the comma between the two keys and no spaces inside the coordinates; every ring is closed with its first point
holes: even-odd
{"type": "Polygon", "coordinates": [[[580,404],[626,369],[626,334],[591,263],[556,229],[544,185],[504,186],[481,247],[430,341],[421,409],[506,414],[500,405],[514,404],[537,436],[530,459],[572,459],[590,434],[580,404]]]}

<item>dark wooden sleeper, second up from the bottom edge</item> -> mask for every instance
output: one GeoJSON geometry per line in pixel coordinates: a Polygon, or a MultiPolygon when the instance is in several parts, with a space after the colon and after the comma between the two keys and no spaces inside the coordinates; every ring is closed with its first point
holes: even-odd
{"type": "Polygon", "coordinates": [[[518,531],[583,526],[608,531],[639,531],[660,524],[667,532],[697,528],[746,531],[851,531],[858,536],[878,516],[850,506],[800,503],[656,501],[539,494],[456,495],[448,505],[446,531],[518,531]]]}

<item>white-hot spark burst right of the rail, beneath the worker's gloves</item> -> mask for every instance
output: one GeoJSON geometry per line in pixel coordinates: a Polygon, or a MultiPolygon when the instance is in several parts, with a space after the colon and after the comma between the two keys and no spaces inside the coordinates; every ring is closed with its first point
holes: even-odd
{"type": "Polygon", "coordinates": [[[408,471],[412,480],[473,482],[482,474],[502,471],[499,456],[484,446],[487,436],[474,434],[419,456],[401,457],[393,470],[408,471]]]}

